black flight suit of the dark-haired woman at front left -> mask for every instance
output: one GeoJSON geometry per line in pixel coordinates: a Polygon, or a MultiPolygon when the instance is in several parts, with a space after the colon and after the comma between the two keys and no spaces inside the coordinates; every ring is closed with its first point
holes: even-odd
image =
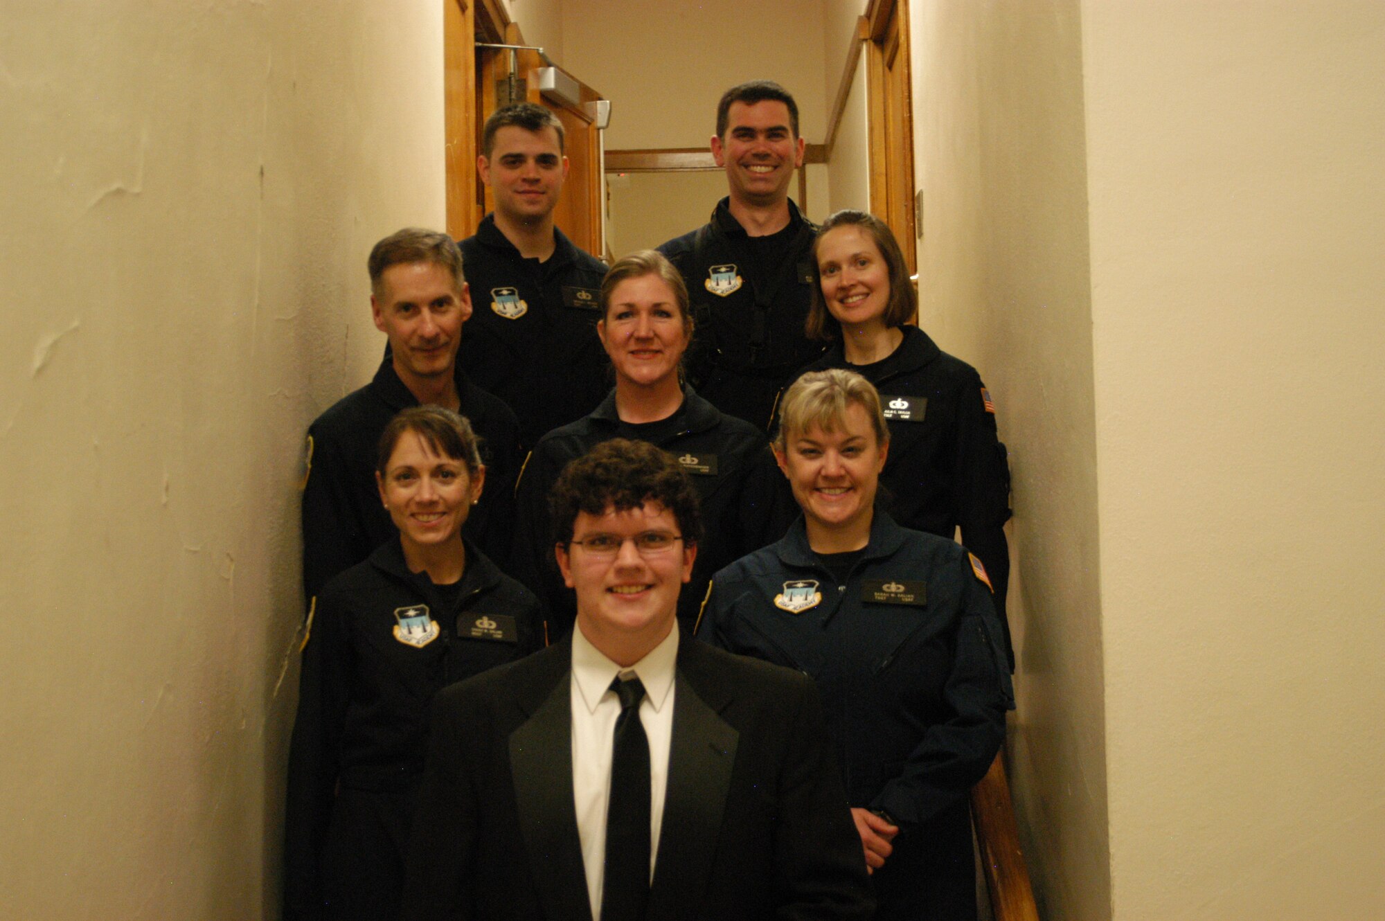
{"type": "Polygon", "coordinates": [[[465,546],[457,586],[410,572],[395,539],[317,598],[288,756],[285,921],[397,917],[434,695],[543,645],[533,594],[465,546]]]}

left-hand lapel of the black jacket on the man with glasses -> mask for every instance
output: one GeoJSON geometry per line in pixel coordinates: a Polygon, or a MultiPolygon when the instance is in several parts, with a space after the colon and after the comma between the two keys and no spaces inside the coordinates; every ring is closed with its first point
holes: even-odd
{"type": "Polygon", "coordinates": [[[519,832],[550,918],[591,918],[572,795],[572,641],[537,652],[542,672],[515,687],[528,719],[510,734],[519,832]]]}

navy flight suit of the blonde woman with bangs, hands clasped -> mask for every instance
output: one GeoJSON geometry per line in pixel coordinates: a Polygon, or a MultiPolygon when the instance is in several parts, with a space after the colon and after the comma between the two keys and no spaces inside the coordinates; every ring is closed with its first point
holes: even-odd
{"type": "Polygon", "coordinates": [[[877,510],[837,583],[801,518],[713,576],[697,637],[810,674],[849,805],[900,831],[871,881],[881,921],[976,917],[968,791],[1012,706],[990,590],[960,544],[877,510]]]}

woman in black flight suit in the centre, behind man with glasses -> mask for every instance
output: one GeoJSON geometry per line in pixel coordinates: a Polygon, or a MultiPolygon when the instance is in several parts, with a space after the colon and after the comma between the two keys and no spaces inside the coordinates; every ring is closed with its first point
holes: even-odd
{"type": "Polygon", "coordinates": [[[712,573],[777,540],[794,512],[765,433],[680,381],[692,316],[677,269],[652,249],[630,253],[611,266],[600,298],[597,335],[611,356],[615,389],[589,415],[539,439],[515,496],[515,575],[548,609],[550,641],[572,629],[576,605],[554,564],[548,489],[568,461],[598,443],[627,438],[662,447],[698,490],[706,537],[679,596],[684,630],[692,630],[712,573]]]}

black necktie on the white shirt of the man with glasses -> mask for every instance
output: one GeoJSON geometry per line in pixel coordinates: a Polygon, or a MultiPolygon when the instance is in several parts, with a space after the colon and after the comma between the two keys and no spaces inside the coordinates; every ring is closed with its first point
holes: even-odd
{"type": "Polygon", "coordinates": [[[601,885],[601,921],[640,921],[650,899],[650,740],[640,722],[640,679],[611,690],[620,698],[611,758],[607,803],[607,866],[601,885]]]}

